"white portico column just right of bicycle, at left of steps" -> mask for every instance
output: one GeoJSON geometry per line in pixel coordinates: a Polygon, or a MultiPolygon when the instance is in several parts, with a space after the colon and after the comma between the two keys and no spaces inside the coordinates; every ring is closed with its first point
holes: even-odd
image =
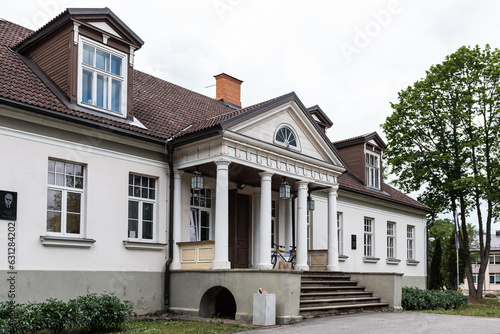
{"type": "Polygon", "coordinates": [[[297,270],[309,270],[307,265],[307,184],[297,182],[297,270]]]}

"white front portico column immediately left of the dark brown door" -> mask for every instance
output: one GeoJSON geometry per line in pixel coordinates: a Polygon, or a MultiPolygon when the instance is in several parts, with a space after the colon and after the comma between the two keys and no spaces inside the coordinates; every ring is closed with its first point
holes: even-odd
{"type": "Polygon", "coordinates": [[[215,193],[215,254],[213,269],[231,269],[228,255],[229,237],[229,164],[228,160],[215,161],[217,187],[215,193]]]}

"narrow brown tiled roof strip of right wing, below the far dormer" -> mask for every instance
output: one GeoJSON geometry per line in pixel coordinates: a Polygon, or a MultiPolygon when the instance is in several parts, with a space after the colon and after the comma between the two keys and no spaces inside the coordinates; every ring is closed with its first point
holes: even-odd
{"type": "Polygon", "coordinates": [[[365,187],[361,181],[354,177],[349,172],[345,172],[338,178],[339,188],[355,193],[360,193],[366,196],[375,197],[381,200],[402,204],[416,209],[431,212],[431,209],[414,200],[413,198],[403,194],[401,191],[391,187],[386,183],[382,183],[381,191],[365,187]]]}

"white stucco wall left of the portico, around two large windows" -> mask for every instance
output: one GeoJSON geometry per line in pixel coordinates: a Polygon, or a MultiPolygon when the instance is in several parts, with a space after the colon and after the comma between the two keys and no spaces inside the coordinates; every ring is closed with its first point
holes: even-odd
{"type": "MultiPolygon", "coordinates": [[[[123,147],[110,150],[112,146],[120,148],[120,144],[103,138],[71,134],[67,139],[57,139],[69,132],[56,127],[31,126],[34,132],[50,132],[53,137],[0,126],[3,157],[0,188],[18,194],[16,269],[161,272],[165,264],[164,250],[129,250],[123,241],[127,240],[128,229],[128,176],[136,173],[157,178],[155,241],[166,243],[168,178],[165,164],[123,153],[127,151],[123,147]],[[47,247],[40,241],[40,236],[47,235],[49,158],[85,165],[82,236],[96,240],[90,248],[47,247]]],[[[5,245],[7,227],[2,225],[5,228],[0,232],[0,244],[5,245]]],[[[0,269],[7,269],[6,255],[0,256],[0,269]]]]}

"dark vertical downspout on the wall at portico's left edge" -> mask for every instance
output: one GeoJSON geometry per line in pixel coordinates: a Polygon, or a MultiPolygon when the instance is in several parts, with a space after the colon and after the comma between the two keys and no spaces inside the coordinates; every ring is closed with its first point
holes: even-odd
{"type": "Polygon", "coordinates": [[[167,141],[167,164],[170,177],[169,184],[169,203],[168,203],[168,260],[165,264],[165,307],[170,306],[170,264],[173,260],[174,253],[174,166],[172,155],[174,153],[174,145],[171,141],[167,141]]]}

